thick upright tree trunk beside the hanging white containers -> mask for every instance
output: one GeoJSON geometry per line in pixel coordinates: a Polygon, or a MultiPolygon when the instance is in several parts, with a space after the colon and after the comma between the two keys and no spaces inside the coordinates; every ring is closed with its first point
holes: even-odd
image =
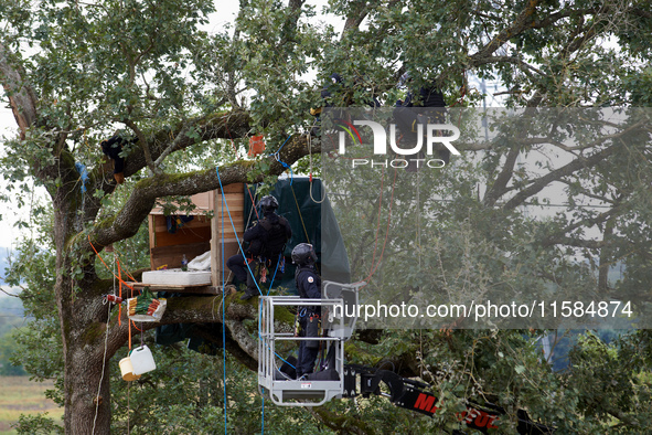
{"type": "MultiPolygon", "coordinates": [[[[66,434],[110,433],[109,360],[115,348],[106,348],[120,337],[107,337],[108,306],[89,261],[70,243],[70,224],[77,213],[72,201],[55,201],[56,285],[55,295],[64,352],[64,428],[66,434]],[[83,267],[84,278],[74,280],[74,268],[83,267]],[[105,351],[106,349],[106,351],[105,351]],[[105,356],[106,352],[106,356],[105,356]],[[106,363],[104,363],[106,361],[106,363]]],[[[119,335],[118,335],[119,336],[119,335]]],[[[124,339],[122,339],[124,341],[124,339]]]]}

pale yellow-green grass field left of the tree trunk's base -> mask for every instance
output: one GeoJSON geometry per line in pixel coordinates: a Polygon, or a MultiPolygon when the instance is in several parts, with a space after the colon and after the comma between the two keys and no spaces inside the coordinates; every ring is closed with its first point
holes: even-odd
{"type": "Polygon", "coordinates": [[[0,376],[0,435],[15,434],[11,428],[21,414],[47,412],[56,421],[63,409],[43,394],[52,382],[32,382],[29,376],[0,376]]]}

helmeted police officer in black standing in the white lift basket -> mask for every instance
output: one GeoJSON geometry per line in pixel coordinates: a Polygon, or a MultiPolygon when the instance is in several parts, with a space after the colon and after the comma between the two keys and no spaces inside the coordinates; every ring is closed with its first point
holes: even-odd
{"type": "MultiPolygon", "coordinates": [[[[314,262],[317,254],[311,244],[300,243],[292,250],[292,263],[297,265],[295,282],[301,298],[321,299],[321,278],[317,274],[314,262]]],[[[321,308],[319,306],[299,307],[301,337],[318,337],[321,308]]],[[[319,353],[318,340],[299,341],[299,361],[297,379],[312,373],[319,353]]]]}

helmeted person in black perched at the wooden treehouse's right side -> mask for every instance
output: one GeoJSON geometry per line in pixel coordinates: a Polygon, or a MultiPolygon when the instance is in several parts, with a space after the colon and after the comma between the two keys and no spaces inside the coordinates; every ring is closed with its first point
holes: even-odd
{"type": "Polygon", "coordinates": [[[258,265],[261,267],[276,267],[286,242],[292,236],[288,220],[276,214],[276,209],[278,209],[276,198],[272,195],[263,197],[258,204],[263,212],[263,219],[245,231],[243,236],[244,241],[249,243],[246,252],[247,258],[242,254],[237,254],[226,261],[226,266],[238,280],[247,283],[247,289],[241,296],[242,300],[258,296],[258,288],[252,274],[256,273],[258,265]]]}

